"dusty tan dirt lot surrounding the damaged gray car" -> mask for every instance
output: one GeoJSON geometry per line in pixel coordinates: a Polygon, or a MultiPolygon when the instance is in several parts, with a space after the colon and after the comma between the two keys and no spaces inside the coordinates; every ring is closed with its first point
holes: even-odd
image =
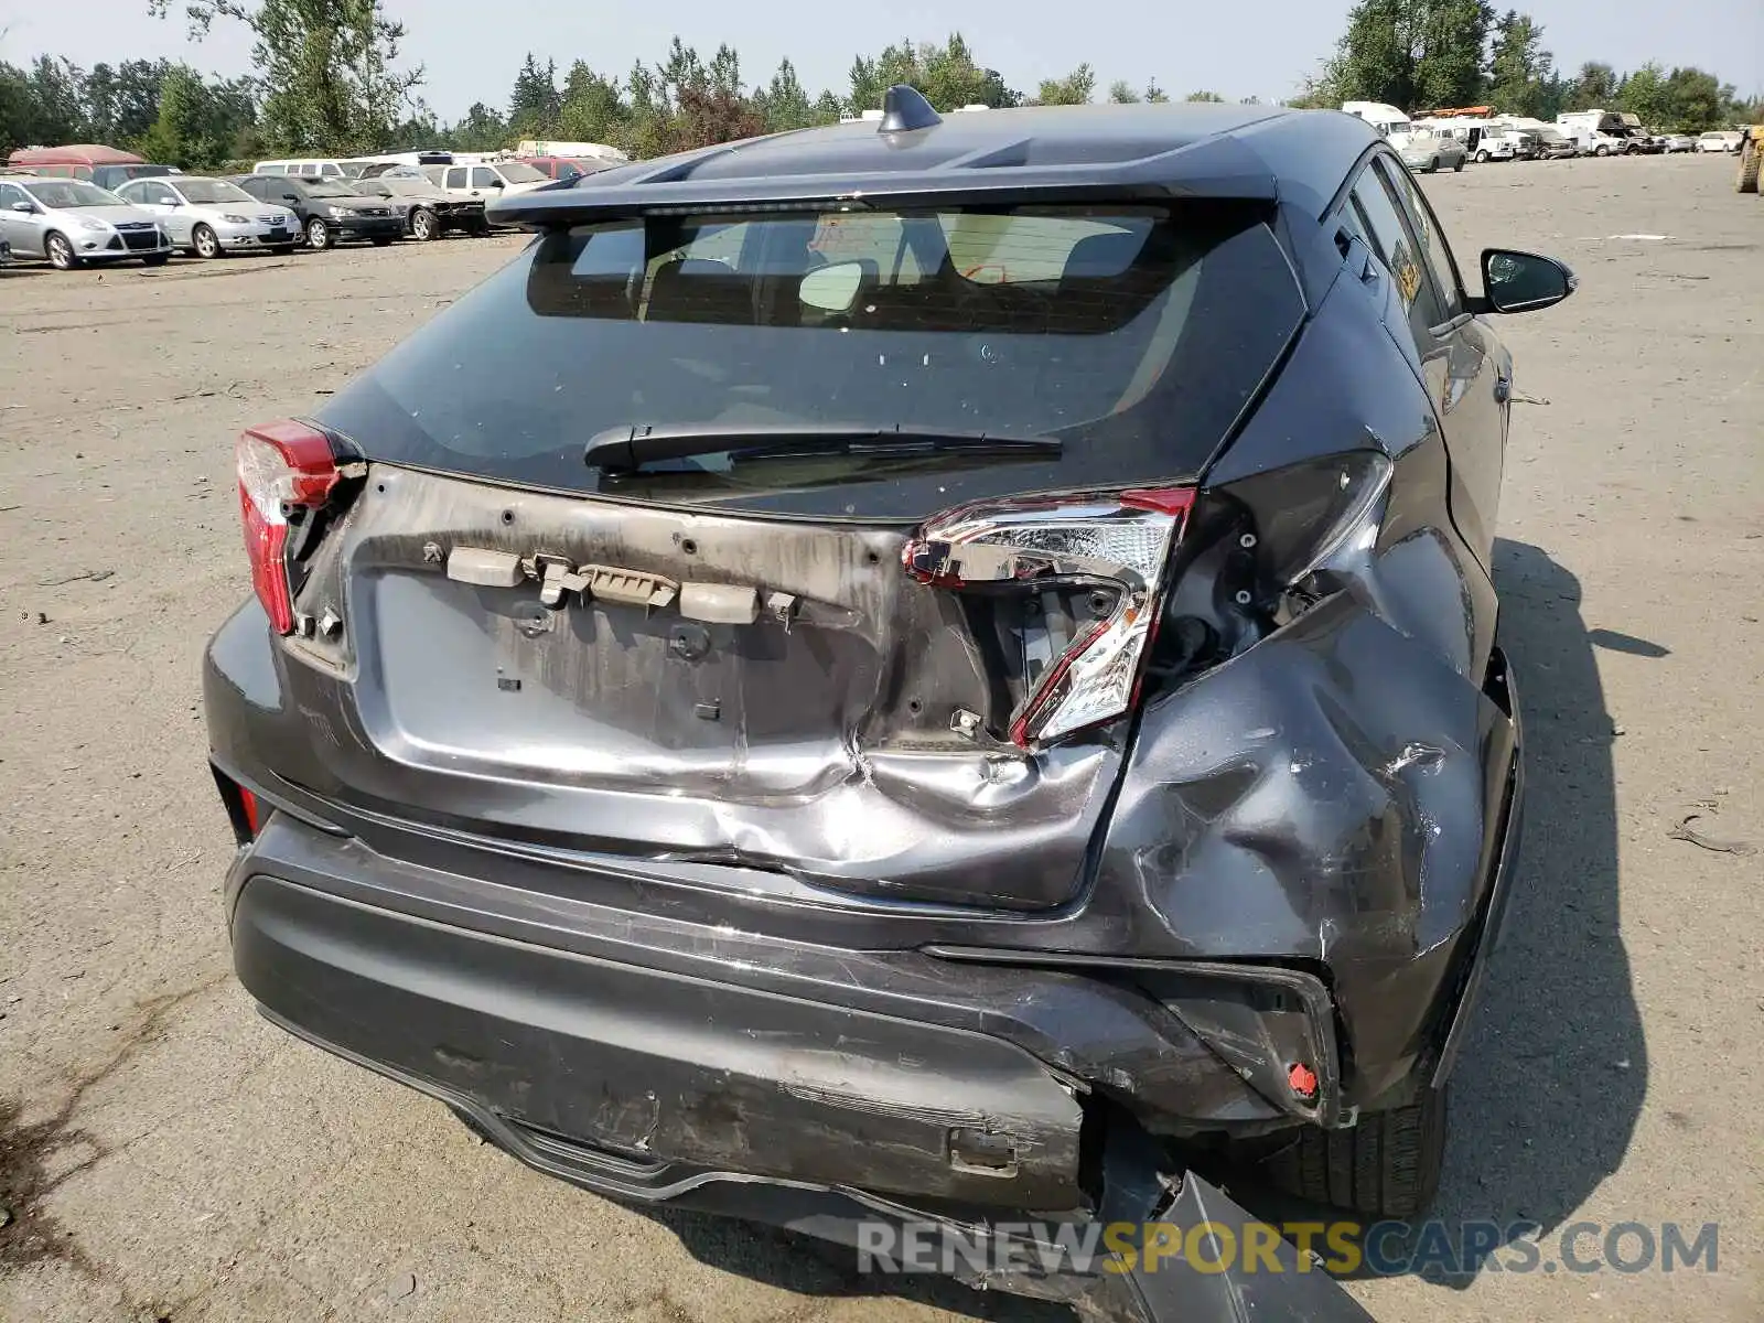
{"type": "MultiPolygon", "coordinates": [[[[1438,1214],[1536,1221],[1545,1259],[1579,1221],[1716,1221],[1718,1272],[1355,1282],[1379,1319],[1764,1319],[1764,854],[1667,834],[1700,811],[1764,847],[1764,199],[1729,178],[1672,157],[1425,185],[1471,266],[1499,242],[1581,275],[1499,328],[1529,806],[1438,1214]]],[[[0,1318],[1064,1318],[603,1203],[233,983],[198,691],[249,591],[233,436],[517,245],[0,273],[0,1318]]]]}

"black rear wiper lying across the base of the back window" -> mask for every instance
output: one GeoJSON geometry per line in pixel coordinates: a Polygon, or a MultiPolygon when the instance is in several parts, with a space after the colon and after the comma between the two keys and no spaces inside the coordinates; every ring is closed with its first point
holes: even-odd
{"type": "Polygon", "coordinates": [[[984,452],[1053,459],[1064,448],[1053,436],[1004,436],[940,427],[878,427],[875,423],[644,423],[610,427],[589,437],[582,460],[603,473],[632,473],[695,455],[781,459],[787,455],[875,455],[884,459],[984,452]]]}

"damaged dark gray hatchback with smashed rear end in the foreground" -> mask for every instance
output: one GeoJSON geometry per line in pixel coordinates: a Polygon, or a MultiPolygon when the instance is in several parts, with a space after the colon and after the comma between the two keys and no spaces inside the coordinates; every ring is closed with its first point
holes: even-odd
{"type": "MultiPolygon", "coordinates": [[[[1519,831],[1489,318],[1568,270],[1471,293],[1383,139],[1267,106],[894,88],[490,212],[520,258],[238,441],[265,1014],[850,1244],[1247,1217],[1219,1161],[1420,1212],[1519,831]]],[[[975,1281],[1362,1316],[1037,1263],[975,1281]]]]}

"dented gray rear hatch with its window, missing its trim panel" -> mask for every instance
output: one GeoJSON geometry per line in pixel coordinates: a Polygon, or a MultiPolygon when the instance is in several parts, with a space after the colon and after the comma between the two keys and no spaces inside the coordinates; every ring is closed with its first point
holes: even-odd
{"type": "Polygon", "coordinates": [[[570,217],[240,441],[279,774],[834,901],[1071,900],[1192,482],[1302,316],[1268,215],[570,217]]]}

